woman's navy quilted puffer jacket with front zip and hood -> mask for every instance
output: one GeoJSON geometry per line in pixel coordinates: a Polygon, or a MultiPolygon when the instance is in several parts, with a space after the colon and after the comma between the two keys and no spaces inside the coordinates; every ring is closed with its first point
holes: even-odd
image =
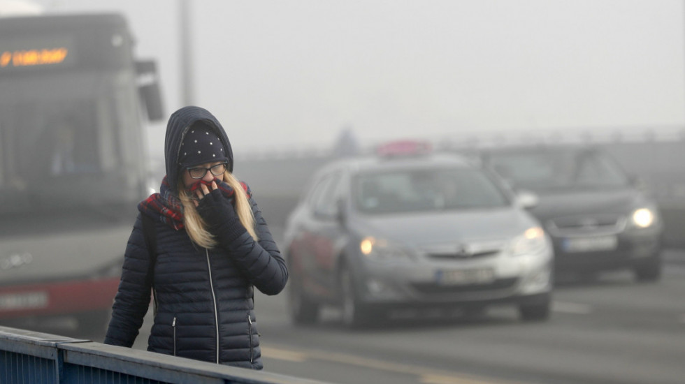
{"type": "MultiPolygon", "coordinates": [[[[206,110],[189,107],[175,112],[167,128],[168,176],[170,161],[174,168],[177,160],[176,156],[169,156],[169,130],[183,132],[197,119],[212,121],[225,138],[221,125],[206,110]]],[[[172,141],[180,145],[182,138],[180,134],[172,141]]],[[[230,160],[232,165],[232,156],[230,160]]],[[[168,182],[175,189],[173,180],[178,175],[173,173],[174,179],[168,177],[168,182]]],[[[284,288],[288,272],[252,197],[250,205],[258,242],[244,228],[233,230],[231,225],[222,228],[224,233],[215,234],[219,246],[203,249],[191,241],[185,229],[176,230],[162,221],[154,221],[154,265],[143,233],[143,213],[139,214],[127,244],[105,343],[133,345],[154,288],[157,313],[148,350],[261,369],[253,286],[266,295],[275,295],[284,288]]]]}

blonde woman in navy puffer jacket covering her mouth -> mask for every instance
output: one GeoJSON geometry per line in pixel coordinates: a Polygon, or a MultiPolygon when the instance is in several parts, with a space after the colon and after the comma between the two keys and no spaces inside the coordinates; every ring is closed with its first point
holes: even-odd
{"type": "Polygon", "coordinates": [[[160,193],[138,206],[105,344],[133,345],[152,288],[147,350],[262,369],[253,286],[275,295],[288,272],[250,189],[231,173],[226,132],[207,110],[181,108],[164,156],[160,193]]]}

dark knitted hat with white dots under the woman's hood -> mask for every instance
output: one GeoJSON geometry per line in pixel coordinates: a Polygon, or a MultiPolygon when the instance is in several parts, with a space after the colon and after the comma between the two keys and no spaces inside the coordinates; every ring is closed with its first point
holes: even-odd
{"type": "Polygon", "coordinates": [[[178,163],[182,168],[188,168],[215,161],[228,161],[224,145],[212,126],[196,121],[181,142],[178,163]]]}

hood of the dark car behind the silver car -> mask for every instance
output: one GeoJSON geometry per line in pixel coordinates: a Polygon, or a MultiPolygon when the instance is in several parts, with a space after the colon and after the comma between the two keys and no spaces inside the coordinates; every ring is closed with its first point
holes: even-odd
{"type": "Polygon", "coordinates": [[[540,221],[560,216],[612,213],[628,214],[630,210],[647,205],[641,193],[632,189],[604,189],[593,191],[563,191],[545,193],[536,191],[537,206],[530,209],[540,221]]]}

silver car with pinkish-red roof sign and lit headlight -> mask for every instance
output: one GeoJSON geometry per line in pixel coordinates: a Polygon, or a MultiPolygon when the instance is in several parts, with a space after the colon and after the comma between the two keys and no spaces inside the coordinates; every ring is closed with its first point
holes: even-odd
{"type": "Polygon", "coordinates": [[[342,308],[346,325],[394,310],[482,311],[514,304],[545,320],[549,236],[488,171],[447,154],[370,156],[324,166],[284,234],[295,323],[342,308]]]}

